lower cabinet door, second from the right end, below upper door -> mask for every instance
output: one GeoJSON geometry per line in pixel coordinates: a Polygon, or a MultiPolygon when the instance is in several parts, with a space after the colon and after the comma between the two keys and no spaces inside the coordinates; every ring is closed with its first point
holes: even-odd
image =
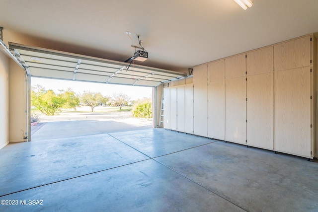
{"type": "Polygon", "coordinates": [[[246,144],[274,149],[274,74],[247,77],[246,144]]]}

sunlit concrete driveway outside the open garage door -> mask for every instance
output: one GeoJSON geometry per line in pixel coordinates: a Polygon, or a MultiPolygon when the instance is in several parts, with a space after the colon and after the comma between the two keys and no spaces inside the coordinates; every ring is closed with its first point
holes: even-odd
{"type": "Polygon", "coordinates": [[[152,119],[130,118],[129,113],[85,114],[41,118],[31,127],[31,141],[107,134],[152,128],[152,119]]]}

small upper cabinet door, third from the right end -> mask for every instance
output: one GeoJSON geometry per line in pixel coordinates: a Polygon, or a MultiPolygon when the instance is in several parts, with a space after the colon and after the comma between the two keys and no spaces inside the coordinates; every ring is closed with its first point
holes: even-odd
{"type": "Polygon", "coordinates": [[[225,59],[225,78],[245,76],[245,53],[225,59]]]}

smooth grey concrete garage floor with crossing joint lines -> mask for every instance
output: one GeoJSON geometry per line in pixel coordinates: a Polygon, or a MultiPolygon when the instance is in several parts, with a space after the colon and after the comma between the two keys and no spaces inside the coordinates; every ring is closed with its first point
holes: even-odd
{"type": "Polygon", "coordinates": [[[318,211],[317,159],[164,129],[14,143],[0,161],[0,200],[18,201],[0,211],[318,211]]]}

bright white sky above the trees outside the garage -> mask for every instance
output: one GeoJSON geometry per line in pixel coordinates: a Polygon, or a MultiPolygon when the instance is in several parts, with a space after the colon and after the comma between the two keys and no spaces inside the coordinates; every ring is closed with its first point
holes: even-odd
{"type": "Polygon", "coordinates": [[[128,85],[113,85],[104,83],[79,82],[70,80],[45,79],[31,77],[31,86],[40,84],[46,90],[53,90],[58,93],[59,90],[67,90],[72,88],[77,94],[83,91],[100,92],[103,96],[112,96],[113,93],[125,93],[132,100],[143,99],[144,97],[152,98],[152,87],[128,86],[128,85]]]}

